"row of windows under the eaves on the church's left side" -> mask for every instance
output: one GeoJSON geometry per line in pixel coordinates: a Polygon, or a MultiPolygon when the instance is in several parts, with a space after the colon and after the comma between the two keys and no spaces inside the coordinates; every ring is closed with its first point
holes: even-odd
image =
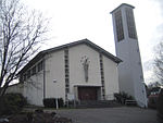
{"type": "Polygon", "coordinates": [[[36,64],[35,66],[33,66],[32,69],[29,69],[27,72],[25,72],[23,74],[23,81],[26,81],[27,78],[29,78],[30,76],[35,75],[36,73],[40,72],[43,70],[43,62],[40,61],[38,64],[36,64]]]}

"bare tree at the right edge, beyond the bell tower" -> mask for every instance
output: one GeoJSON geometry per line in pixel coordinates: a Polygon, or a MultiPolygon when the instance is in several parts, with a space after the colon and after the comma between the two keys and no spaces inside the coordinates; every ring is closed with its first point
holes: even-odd
{"type": "Polygon", "coordinates": [[[158,82],[163,85],[163,41],[155,48],[154,73],[158,82]]]}

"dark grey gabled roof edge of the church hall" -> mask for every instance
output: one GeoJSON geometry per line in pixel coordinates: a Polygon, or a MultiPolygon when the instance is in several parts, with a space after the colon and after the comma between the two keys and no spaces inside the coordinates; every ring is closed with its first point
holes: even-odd
{"type": "Polygon", "coordinates": [[[117,57],[111,54],[110,52],[105,51],[104,49],[102,49],[101,47],[97,46],[96,44],[91,42],[90,40],[88,39],[83,39],[83,40],[78,40],[78,41],[74,41],[74,42],[71,42],[71,44],[66,44],[66,45],[62,45],[62,46],[59,46],[59,47],[54,47],[54,48],[51,48],[51,49],[47,49],[47,50],[43,50],[43,51],[40,51],[35,58],[33,58],[21,71],[20,73],[26,71],[28,67],[30,67],[34,63],[36,63],[38,60],[42,59],[46,54],[48,53],[51,53],[51,52],[54,52],[54,51],[58,51],[58,50],[62,50],[64,48],[71,48],[71,47],[74,47],[74,46],[77,46],[77,45],[82,45],[82,44],[85,44],[89,47],[91,47],[92,49],[95,49],[96,51],[104,54],[105,57],[108,57],[109,59],[111,59],[112,61],[116,62],[116,63],[120,63],[122,62],[121,59],[118,59],[117,57]]]}

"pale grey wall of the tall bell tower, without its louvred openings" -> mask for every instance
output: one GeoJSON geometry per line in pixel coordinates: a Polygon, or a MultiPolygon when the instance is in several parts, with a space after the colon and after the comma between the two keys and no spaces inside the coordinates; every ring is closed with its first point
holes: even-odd
{"type": "Polygon", "coordinates": [[[147,106],[146,90],[143,89],[143,73],[141,66],[141,59],[139,52],[139,46],[137,39],[131,39],[128,36],[126,11],[125,8],[128,5],[122,5],[124,39],[117,41],[115,16],[113,13],[113,29],[115,37],[116,56],[123,60],[118,65],[120,74],[120,89],[131,95],[138,102],[139,106],[147,106]]]}

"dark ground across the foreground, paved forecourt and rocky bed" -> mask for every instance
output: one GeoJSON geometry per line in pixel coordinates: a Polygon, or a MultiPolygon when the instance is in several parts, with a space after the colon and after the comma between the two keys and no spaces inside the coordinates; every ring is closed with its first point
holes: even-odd
{"type": "Polygon", "coordinates": [[[33,113],[12,115],[9,123],[159,123],[155,110],[136,107],[28,110],[33,113]]]}

